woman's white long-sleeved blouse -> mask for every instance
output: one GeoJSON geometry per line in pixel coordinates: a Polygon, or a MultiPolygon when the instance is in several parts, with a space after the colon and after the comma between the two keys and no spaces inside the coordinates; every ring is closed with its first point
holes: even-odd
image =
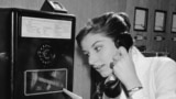
{"type": "MultiPolygon", "coordinates": [[[[136,47],[132,58],[143,89],[132,99],[176,99],[176,63],[168,57],[145,57],[136,47]]],[[[103,99],[108,98],[103,95],[103,99]]],[[[128,99],[124,91],[114,99],[128,99]]]]}

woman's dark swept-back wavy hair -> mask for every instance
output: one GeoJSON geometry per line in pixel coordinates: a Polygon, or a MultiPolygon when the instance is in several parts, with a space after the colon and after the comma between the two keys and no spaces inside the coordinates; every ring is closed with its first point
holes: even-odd
{"type": "Polygon", "coordinates": [[[114,42],[120,40],[128,43],[125,44],[125,48],[129,50],[133,44],[132,37],[129,34],[130,28],[131,23],[127,13],[108,12],[87,22],[86,26],[82,28],[76,36],[77,44],[79,47],[81,47],[81,41],[89,33],[101,33],[111,37],[114,42]]]}

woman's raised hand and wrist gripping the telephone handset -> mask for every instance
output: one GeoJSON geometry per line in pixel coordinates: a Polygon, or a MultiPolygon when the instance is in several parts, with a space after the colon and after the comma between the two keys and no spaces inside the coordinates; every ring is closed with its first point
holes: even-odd
{"type": "Polygon", "coordinates": [[[128,90],[141,86],[136,76],[134,63],[128,51],[121,46],[113,57],[113,74],[124,84],[128,90]]]}

